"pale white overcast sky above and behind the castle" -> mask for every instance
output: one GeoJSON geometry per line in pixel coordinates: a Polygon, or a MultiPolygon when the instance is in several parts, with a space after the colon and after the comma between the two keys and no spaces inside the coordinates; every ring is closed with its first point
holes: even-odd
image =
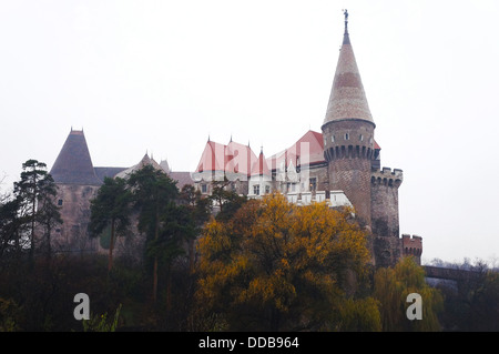
{"type": "Polygon", "coordinates": [[[193,171],[208,138],[267,156],[320,132],[343,11],[400,232],[424,261],[499,257],[499,2],[0,0],[1,190],[71,128],[96,166],[193,171]]]}

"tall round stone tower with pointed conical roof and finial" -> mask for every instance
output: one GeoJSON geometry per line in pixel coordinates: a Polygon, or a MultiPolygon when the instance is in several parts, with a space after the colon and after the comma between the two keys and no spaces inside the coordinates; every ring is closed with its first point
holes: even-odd
{"type": "Polygon", "coordinates": [[[369,111],[348,34],[345,33],[322,127],[329,190],[342,190],[356,214],[370,227],[370,172],[375,123],[369,111]]]}

